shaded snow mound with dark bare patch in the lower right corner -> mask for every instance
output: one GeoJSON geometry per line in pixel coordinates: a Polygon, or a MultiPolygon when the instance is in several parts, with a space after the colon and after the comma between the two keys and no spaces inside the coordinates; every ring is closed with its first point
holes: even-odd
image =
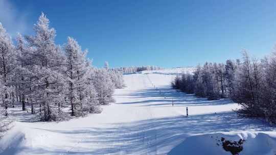
{"type": "MultiPolygon", "coordinates": [[[[276,136],[275,133],[216,133],[191,136],[182,143],[174,147],[168,154],[235,154],[230,150],[223,148],[223,142],[241,142],[240,150],[236,154],[262,154],[274,155],[276,153],[276,136]],[[245,140],[244,142],[241,142],[245,140]]],[[[228,144],[227,146],[230,146],[228,144]]],[[[233,146],[233,145],[231,145],[233,146]]],[[[238,146],[236,146],[238,147],[238,146]]]]}

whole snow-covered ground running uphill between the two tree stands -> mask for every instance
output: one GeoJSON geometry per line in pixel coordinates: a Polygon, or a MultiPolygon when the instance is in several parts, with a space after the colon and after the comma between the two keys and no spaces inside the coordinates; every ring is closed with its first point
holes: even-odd
{"type": "Polygon", "coordinates": [[[58,123],[28,122],[30,114],[10,116],[17,121],[0,139],[0,154],[231,154],[217,144],[221,137],[245,139],[239,154],[276,154],[274,127],[239,118],[233,101],[171,89],[176,73],[192,70],[126,74],[127,87],[116,90],[116,103],[104,106],[101,114],[58,123]]]}

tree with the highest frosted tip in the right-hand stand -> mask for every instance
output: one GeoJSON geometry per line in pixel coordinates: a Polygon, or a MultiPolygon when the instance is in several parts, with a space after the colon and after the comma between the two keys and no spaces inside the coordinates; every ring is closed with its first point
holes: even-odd
{"type": "Polygon", "coordinates": [[[233,100],[242,105],[243,110],[250,115],[260,117],[262,98],[261,90],[263,87],[263,72],[257,60],[250,61],[246,51],[243,52],[243,63],[237,77],[237,94],[233,100]]]}

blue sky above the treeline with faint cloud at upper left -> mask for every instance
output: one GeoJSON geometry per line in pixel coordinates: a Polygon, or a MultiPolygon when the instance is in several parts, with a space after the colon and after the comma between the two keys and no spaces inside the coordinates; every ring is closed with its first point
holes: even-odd
{"type": "Polygon", "coordinates": [[[262,58],[276,42],[276,1],[0,1],[11,34],[32,33],[44,12],[56,42],[74,37],[98,67],[195,66],[242,49],[262,58]]]}

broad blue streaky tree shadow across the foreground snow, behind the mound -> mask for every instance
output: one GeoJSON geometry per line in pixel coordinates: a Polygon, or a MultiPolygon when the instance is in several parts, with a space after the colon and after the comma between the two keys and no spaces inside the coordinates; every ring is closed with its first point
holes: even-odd
{"type": "MultiPolygon", "coordinates": [[[[116,127],[47,131],[65,134],[66,137],[71,137],[72,143],[76,143],[73,147],[68,146],[72,147],[70,150],[57,149],[56,153],[61,154],[164,154],[192,135],[250,130],[273,131],[273,127],[264,122],[239,118],[234,112],[147,119],[113,125],[116,127]],[[94,148],[95,144],[104,147],[94,148]]],[[[29,151],[47,151],[43,149],[29,151]]],[[[49,149],[55,152],[55,148],[49,149]]]]}

